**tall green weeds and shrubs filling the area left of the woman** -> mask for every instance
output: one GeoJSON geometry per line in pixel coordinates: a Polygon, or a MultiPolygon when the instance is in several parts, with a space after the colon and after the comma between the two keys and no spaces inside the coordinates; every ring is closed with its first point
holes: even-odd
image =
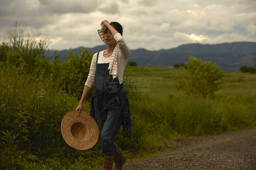
{"type": "MultiPolygon", "coordinates": [[[[62,118],[78,105],[92,53],[80,48],[81,55],[70,51],[68,60],[60,62],[55,52],[51,62],[44,58],[48,40],[38,41],[40,34],[25,37],[25,28],[7,31],[12,49],[4,43],[0,47],[1,169],[96,167],[99,143],[80,152],[60,132],[62,118]]],[[[88,101],[84,109],[89,112],[88,101]]]]}

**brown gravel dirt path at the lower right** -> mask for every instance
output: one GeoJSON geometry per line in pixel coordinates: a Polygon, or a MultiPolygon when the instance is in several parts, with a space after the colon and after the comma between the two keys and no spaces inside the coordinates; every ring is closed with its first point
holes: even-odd
{"type": "Polygon", "coordinates": [[[167,154],[126,162],[124,170],[256,170],[256,128],[179,139],[167,154]]]}

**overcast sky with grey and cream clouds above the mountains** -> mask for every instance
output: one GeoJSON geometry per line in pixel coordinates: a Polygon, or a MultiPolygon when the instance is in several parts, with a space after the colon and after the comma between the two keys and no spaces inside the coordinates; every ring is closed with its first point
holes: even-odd
{"type": "Polygon", "coordinates": [[[17,21],[50,39],[50,49],[95,47],[103,45],[97,29],[105,19],[124,26],[131,49],[256,42],[255,0],[1,0],[0,40],[17,21]]]}

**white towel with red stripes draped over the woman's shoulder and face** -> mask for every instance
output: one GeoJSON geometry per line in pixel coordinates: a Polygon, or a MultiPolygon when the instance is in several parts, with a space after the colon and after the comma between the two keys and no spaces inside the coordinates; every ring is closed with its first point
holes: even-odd
{"type": "MultiPolygon", "coordinates": [[[[106,27],[104,26],[103,23],[101,23],[101,27],[98,29],[98,34],[101,40],[106,44],[106,42],[104,41],[105,29],[106,27]]],[[[120,52],[119,47],[118,45],[116,45],[111,55],[111,58],[110,58],[111,62],[109,63],[109,67],[108,67],[109,74],[113,76],[113,79],[117,77],[117,59],[118,59],[119,52],[120,52]]]]}

